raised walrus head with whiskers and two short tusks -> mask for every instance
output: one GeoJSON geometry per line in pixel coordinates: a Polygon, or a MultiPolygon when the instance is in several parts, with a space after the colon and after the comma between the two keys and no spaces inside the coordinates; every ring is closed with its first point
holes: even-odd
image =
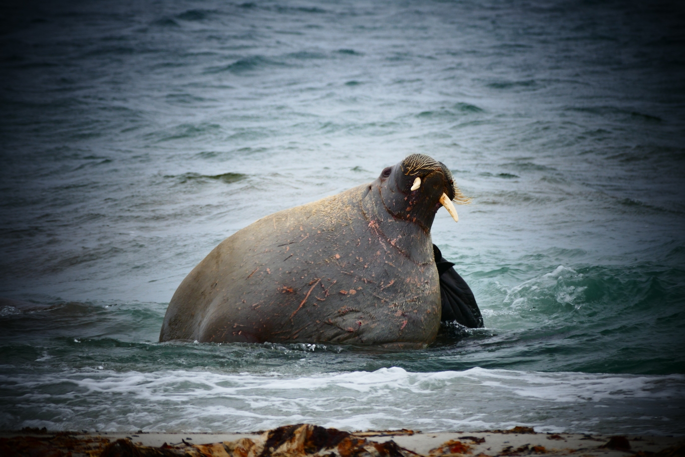
{"type": "Polygon", "coordinates": [[[384,169],[376,180],[386,210],[396,219],[419,224],[429,232],[435,214],[444,206],[458,221],[453,201],[469,203],[452,173],[442,162],[424,154],[412,154],[384,169]]]}

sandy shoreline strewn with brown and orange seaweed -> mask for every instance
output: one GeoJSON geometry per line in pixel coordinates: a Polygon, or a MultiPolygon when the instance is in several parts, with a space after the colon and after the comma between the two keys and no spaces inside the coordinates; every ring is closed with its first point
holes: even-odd
{"type": "Polygon", "coordinates": [[[221,457],[675,457],[684,436],[543,433],[531,428],[423,433],[344,432],[296,424],[251,433],[0,431],[1,455],[221,457]]]}

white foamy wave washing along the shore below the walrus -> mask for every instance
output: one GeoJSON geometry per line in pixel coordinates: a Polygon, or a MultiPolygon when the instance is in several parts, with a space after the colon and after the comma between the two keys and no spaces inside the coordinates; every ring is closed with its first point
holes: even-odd
{"type": "MultiPolygon", "coordinates": [[[[308,376],[88,369],[30,377],[2,375],[0,383],[21,398],[17,408],[40,408],[47,412],[44,416],[54,417],[14,426],[97,430],[247,431],[310,422],[345,430],[532,425],[545,431],[591,427],[596,432],[616,423],[652,427],[657,419],[641,419],[643,424],[636,419],[685,393],[683,375],[482,368],[412,373],[392,367],[308,376]],[[641,399],[643,404],[631,411],[625,408],[625,399],[641,399]],[[579,409],[584,412],[579,414],[579,409]],[[587,419],[579,422],[577,417],[587,419]]],[[[660,413],[667,417],[664,414],[660,413]]]]}

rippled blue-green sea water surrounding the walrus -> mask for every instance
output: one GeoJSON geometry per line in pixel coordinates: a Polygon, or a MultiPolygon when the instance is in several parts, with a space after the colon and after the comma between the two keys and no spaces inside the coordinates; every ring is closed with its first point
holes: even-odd
{"type": "Polygon", "coordinates": [[[0,16],[0,428],[685,434],[685,10],[16,3],[0,16]],[[444,162],[486,328],[423,350],[158,343],[277,210],[444,162]]]}

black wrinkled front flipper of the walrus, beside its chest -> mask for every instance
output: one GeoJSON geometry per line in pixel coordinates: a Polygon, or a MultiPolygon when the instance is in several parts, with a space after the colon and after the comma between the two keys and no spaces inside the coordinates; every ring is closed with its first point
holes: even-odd
{"type": "Polygon", "coordinates": [[[440,277],[440,299],[443,305],[440,321],[457,321],[469,328],[482,328],[483,316],[469,284],[455,271],[454,264],[445,260],[436,245],[433,245],[433,254],[440,277]]]}

